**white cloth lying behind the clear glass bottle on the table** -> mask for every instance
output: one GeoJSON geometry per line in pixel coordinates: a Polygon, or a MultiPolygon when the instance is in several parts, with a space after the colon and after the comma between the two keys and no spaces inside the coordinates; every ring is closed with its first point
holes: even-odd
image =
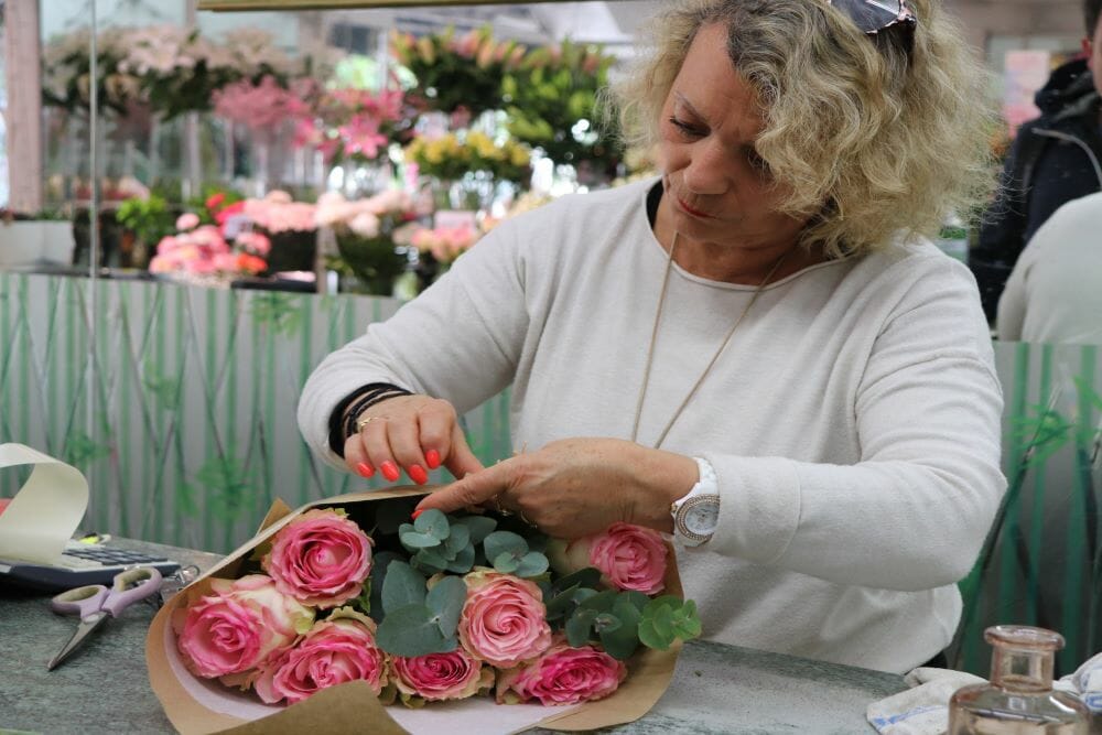
{"type": "MultiPolygon", "coordinates": [[[[949,699],[961,687],[985,683],[986,679],[951,669],[918,668],[904,681],[907,691],[868,705],[865,716],[882,735],[942,735],[949,729],[949,699]]],[[[1054,689],[1070,692],[1102,717],[1102,653],[1072,673],[1054,682],[1054,689]]]]}

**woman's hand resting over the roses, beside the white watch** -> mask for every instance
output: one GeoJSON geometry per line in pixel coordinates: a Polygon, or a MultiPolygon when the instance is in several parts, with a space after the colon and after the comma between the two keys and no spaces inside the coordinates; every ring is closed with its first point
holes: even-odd
{"type": "Polygon", "coordinates": [[[568,439],[471,473],[417,510],[489,505],[549,536],[573,539],[617,521],[672,531],[670,504],[696,482],[696,463],[618,439],[568,439]]]}

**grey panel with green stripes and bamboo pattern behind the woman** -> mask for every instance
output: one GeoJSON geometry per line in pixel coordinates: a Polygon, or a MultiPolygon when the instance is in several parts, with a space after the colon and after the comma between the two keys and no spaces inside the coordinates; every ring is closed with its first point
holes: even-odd
{"type": "MultiPolygon", "coordinates": [[[[326,354],[398,305],[0,272],[0,441],[79,467],[91,484],[88,528],[228,551],[273,498],[374,486],[311,455],[295,404],[326,354]]],[[[984,627],[1042,625],[1067,637],[1068,671],[1102,649],[1098,349],[995,347],[1009,490],[987,553],[961,583],[950,655],[986,673],[984,627]]],[[[512,453],[508,391],[464,422],[483,462],[512,453]]],[[[21,479],[0,474],[0,496],[21,479]]]]}

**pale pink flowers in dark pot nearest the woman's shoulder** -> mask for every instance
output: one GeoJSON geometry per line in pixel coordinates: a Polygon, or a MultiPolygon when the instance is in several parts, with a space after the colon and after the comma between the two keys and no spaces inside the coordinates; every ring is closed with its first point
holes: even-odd
{"type": "Polygon", "coordinates": [[[335,235],[339,259],[334,264],[353,275],[366,293],[389,296],[410,263],[395,242],[396,231],[418,216],[412,198],[396,190],[366,199],[326,192],[317,199],[315,220],[335,235]]]}

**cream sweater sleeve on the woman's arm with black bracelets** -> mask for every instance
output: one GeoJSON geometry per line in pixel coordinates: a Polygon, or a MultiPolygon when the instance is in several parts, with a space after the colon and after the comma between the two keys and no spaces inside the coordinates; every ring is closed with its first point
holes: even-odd
{"type": "Polygon", "coordinates": [[[504,223],[395,316],[328,355],[299,401],[310,447],[343,466],[328,446],[329,417],[358,387],[388,382],[443,398],[464,413],[512,380],[528,328],[523,262],[504,223]]]}

